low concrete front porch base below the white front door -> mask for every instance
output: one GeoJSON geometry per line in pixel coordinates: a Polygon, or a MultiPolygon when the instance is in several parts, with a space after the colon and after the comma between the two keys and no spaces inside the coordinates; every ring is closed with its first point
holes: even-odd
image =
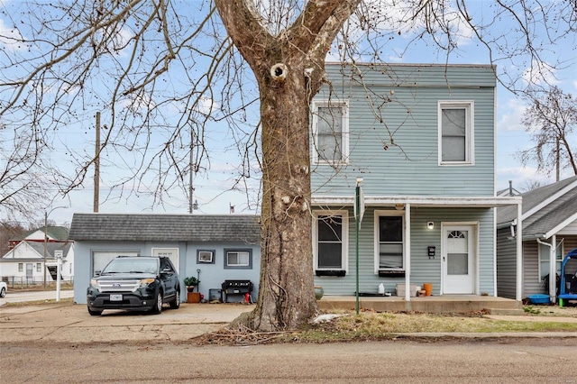
{"type": "MultiPolygon", "coordinates": [[[[324,311],[334,309],[356,309],[354,296],[324,296],[317,301],[324,311]]],[[[378,312],[426,312],[432,314],[469,313],[483,309],[499,312],[514,312],[522,310],[520,301],[504,297],[477,295],[443,295],[429,297],[359,297],[359,308],[374,309],[378,312]]]]}

